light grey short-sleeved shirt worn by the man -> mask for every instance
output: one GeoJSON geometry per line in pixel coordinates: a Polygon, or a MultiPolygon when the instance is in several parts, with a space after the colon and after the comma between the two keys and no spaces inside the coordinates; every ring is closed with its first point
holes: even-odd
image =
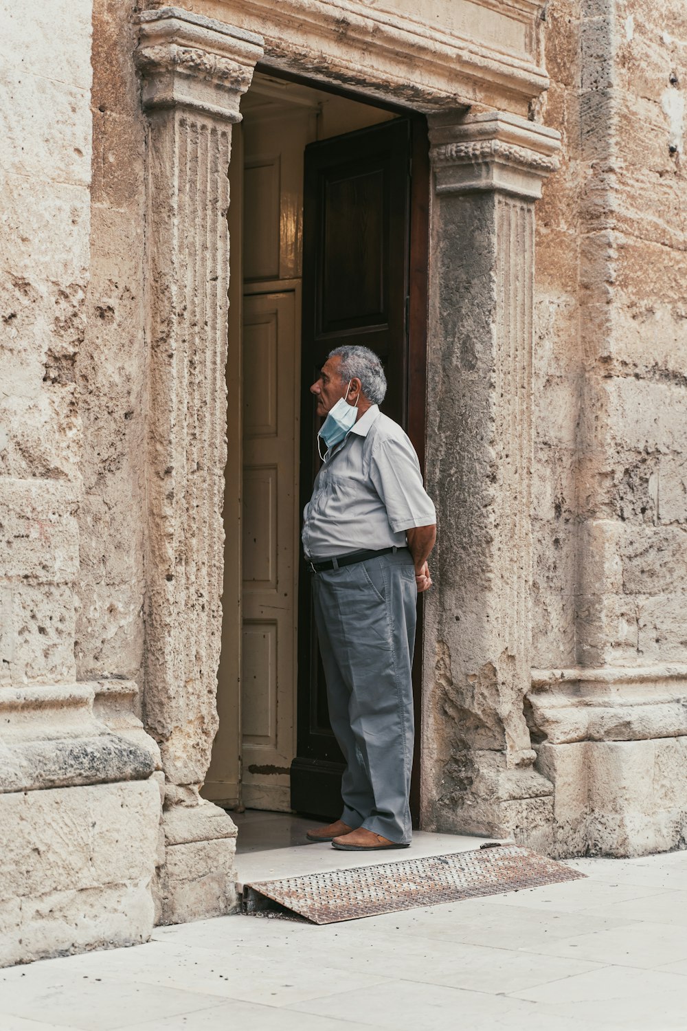
{"type": "Polygon", "coordinates": [[[303,520],[310,559],[404,547],[406,530],[437,522],[415,448],[376,404],[327,453],[303,520]]]}

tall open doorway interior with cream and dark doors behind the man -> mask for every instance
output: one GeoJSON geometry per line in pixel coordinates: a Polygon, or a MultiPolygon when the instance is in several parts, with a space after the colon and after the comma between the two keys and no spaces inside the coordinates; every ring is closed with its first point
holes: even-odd
{"type": "MultiPolygon", "coordinates": [[[[338,817],[342,758],[300,546],[317,461],[308,387],[339,343],[373,347],[389,380],[382,408],[422,462],[426,126],[266,72],[242,113],[230,166],[219,729],[202,793],[238,811],[338,817]]],[[[420,656],[418,640],[415,822],[420,656]]]]}

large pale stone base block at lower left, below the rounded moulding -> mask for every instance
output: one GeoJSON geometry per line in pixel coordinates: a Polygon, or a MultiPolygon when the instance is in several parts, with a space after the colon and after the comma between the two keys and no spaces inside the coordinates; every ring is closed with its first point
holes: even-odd
{"type": "Polygon", "coordinates": [[[0,796],[0,965],[144,941],[154,780],[0,796]]]}

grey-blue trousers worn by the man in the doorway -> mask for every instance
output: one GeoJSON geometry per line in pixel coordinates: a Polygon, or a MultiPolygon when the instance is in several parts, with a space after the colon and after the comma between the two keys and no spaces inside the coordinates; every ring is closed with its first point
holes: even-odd
{"type": "Polygon", "coordinates": [[[405,844],[412,836],[413,560],[403,548],[312,579],[330,720],[346,760],[341,819],[405,844]]]}

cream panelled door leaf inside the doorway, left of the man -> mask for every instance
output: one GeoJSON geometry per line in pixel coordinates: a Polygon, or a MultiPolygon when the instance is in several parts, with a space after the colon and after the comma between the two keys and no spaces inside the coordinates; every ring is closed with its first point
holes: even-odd
{"type": "Polygon", "coordinates": [[[243,305],[243,805],[289,808],[296,755],[297,293],[243,305]]]}

